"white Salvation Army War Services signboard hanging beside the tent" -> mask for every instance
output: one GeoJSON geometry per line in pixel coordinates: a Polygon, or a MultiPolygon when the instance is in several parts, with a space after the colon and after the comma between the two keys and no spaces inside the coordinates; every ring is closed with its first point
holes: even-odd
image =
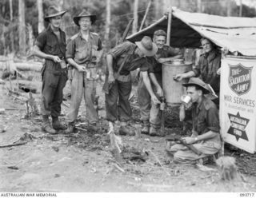
{"type": "Polygon", "coordinates": [[[224,141],[256,151],[256,58],[222,59],[220,124],[224,141]]]}

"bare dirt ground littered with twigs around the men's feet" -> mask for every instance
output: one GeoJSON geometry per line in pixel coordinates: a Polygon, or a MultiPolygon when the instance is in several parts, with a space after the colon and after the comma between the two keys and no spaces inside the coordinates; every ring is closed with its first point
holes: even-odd
{"type": "MultiPolygon", "coordinates": [[[[38,86],[34,97],[39,101],[40,74],[28,74],[34,76],[33,83],[38,86]]],[[[8,95],[5,86],[10,86],[8,81],[0,85],[0,108],[25,109],[24,102],[8,95]]],[[[255,192],[255,155],[226,150],[226,155],[236,157],[238,172],[246,181],[223,181],[219,179],[216,165],[206,165],[212,168],[211,171],[202,171],[194,165],[174,164],[165,152],[166,137],[122,137],[127,153],[123,154],[122,169],[118,169],[110,152],[110,138],[106,135],[101,86],[102,83],[98,83],[100,106],[103,107],[99,112],[102,117],[100,133],[86,131],[84,101],[77,124],[85,130],[70,135],[42,133],[40,117],[25,118],[24,110],[6,110],[0,114],[0,147],[18,140],[26,142],[25,145],[0,148],[0,192],[255,192]],[[20,140],[25,134],[26,138],[20,140]],[[143,153],[147,155],[143,159],[132,158],[129,152],[133,149],[146,151],[143,153]]],[[[69,91],[67,82],[65,94],[69,91]]],[[[27,96],[27,93],[22,94],[27,96]]],[[[66,105],[62,105],[62,121],[70,103],[66,98],[66,105]]],[[[136,121],[136,101],[133,107],[136,121]]],[[[132,127],[134,121],[130,123],[132,127]]],[[[169,115],[167,121],[171,123],[171,128],[166,129],[169,135],[182,133],[177,114],[169,115]]]]}

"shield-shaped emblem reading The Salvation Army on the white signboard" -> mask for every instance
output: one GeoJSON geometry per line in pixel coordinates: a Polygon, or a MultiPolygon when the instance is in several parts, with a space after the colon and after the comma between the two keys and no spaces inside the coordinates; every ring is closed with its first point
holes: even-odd
{"type": "Polygon", "coordinates": [[[229,85],[234,93],[241,96],[249,92],[251,87],[251,69],[253,67],[245,67],[241,63],[238,65],[230,65],[229,85]]]}

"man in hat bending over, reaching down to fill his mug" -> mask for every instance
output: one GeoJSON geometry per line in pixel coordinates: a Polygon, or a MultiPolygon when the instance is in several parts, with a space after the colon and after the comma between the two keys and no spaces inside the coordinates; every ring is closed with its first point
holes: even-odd
{"type": "Polygon", "coordinates": [[[103,86],[106,93],[106,119],[110,124],[117,120],[121,122],[120,135],[134,135],[127,126],[127,121],[130,121],[132,115],[128,100],[132,87],[130,71],[140,69],[151,100],[154,104],[160,103],[152,90],[148,76],[148,73],[154,75],[148,57],[153,57],[157,51],[158,47],[151,38],[144,37],[141,42],[135,44],[124,42],[111,49],[106,56],[107,75],[103,86]]]}

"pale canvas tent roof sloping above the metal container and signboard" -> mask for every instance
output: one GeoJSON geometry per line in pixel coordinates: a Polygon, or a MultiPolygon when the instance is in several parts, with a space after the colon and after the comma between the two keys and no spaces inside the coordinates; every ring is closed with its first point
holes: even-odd
{"type": "MultiPolygon", "coordinates": [[[[153,37],[155,30],[167,31],[167,15],[126,39],[136,42],[143,36],[153,37]]],[[[173,9],[170,46],[199,48],[200,38],[206,37],[217,46],[243,56],[256,56],[256,18],[222,17],[210,14],[189,13],[173,9]]]]}

